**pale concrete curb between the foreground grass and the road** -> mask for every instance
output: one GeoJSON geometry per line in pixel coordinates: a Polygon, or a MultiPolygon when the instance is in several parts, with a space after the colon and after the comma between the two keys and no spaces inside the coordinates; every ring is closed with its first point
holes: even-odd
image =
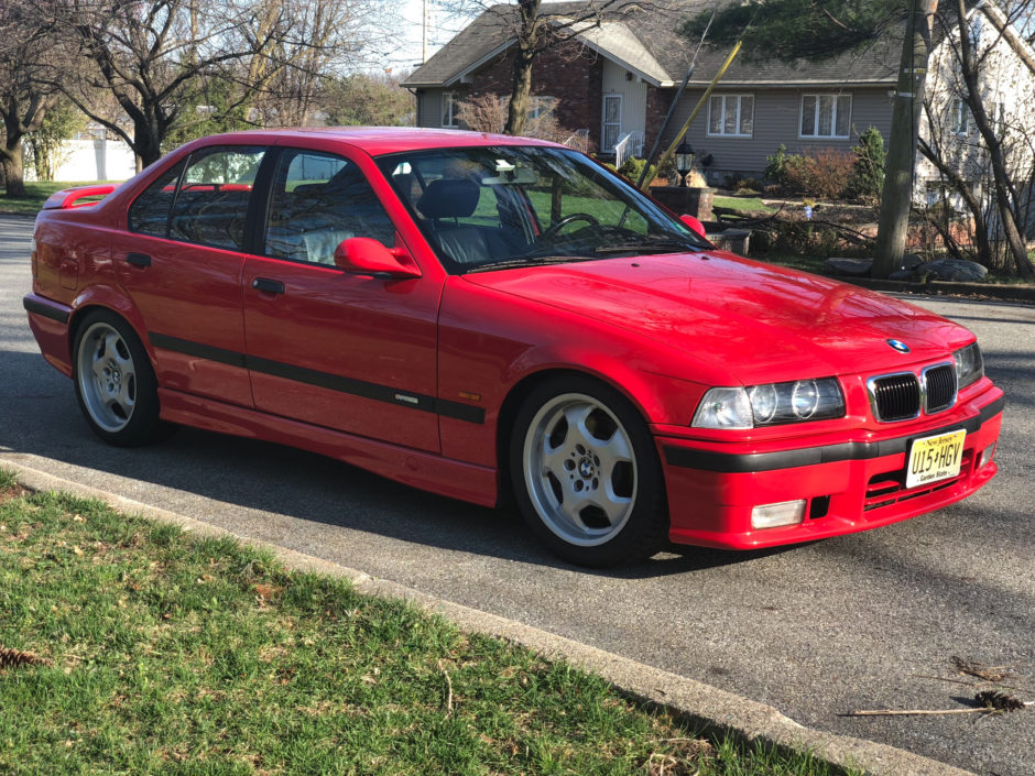
{"type": "Polygon", "coordinates": [[[751,742],[763,741],[799,751],[808,750],[829,763],[862,770],[871,776],[974,776],[969,770],[961,770],[886,744],[811,730],[783,715],[773,707],[710,685],[669,674],[513,620],[451,603],[413,588],[374,579],[362,571],[328,560],[238,536],[208,523],[47,474],[8,457],[0,457],[0,466],[13,470],[18,481],[33,491],[63,491],[80,498],[97,499],[119,512],[172,523],[201,536],[230,536],[244,544],[270,550],[291,569],[348,579],[357,590],[371,595],[405,599],[425,611],[440,614],[462,631],[504,638],[544,656],[563,658],[586,668],[602,676],[625,693],[674,709],[710,730],[726,731],[751,742]]]}

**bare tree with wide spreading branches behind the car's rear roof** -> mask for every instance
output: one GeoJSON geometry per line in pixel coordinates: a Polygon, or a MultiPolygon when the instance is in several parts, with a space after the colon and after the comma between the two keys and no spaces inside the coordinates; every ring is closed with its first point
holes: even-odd
{"type": "Polygon", "coordinates": [[[251,121],[257,98],[285,70],[318,74],[356,51],[346,44],[362,39],[358,19],[372,8],[372,0],[42,2],[89,63],[84,78],[62,80],[63,90],[133,149],[138,168],[161,157],[174,128],[251,121]],[[115,98],[128,123],[95,109],[97,91],[115,98]]]}

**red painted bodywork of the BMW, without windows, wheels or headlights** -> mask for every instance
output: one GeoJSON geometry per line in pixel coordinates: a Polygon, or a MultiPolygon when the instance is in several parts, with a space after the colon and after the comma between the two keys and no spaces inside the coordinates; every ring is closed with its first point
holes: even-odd
{"type": "Polygon", "coordinates": [[[743,549],[862,531],[956,502],[995,474],[1003,394],[985,376],[947,409],[875,417],[868,380],[912,373],[923,382],[925,368],[974,341],[909,304],[715,249],[448,272],[377,160],[518,143],[549,147],[413,130],[196,141],[99,204],[52,197],[36,221],[30,325],[45,359],[72,376],[77,321],[102,308],[139,337],[164,420],[306,448],[483,505],[508,490],[508,440],[530,392],[547,376],[597,381],[650,431],[676,543],[743,549]],[[391,219],[392,252],[413,276],[131,231],[137,197],[214,144],[344,156],[391,219]],[[264,291],[269,280],[284,293],[264,291]],[[827,376],[840,385],[841,417],[691,425],[713,386],[827,376]],[[957,429],[966,430],[958,474],[906,488],[913,441],[957,429]],[[756,506],[795,500],[805,502],[799,522],[753,527],[756,506]]]}

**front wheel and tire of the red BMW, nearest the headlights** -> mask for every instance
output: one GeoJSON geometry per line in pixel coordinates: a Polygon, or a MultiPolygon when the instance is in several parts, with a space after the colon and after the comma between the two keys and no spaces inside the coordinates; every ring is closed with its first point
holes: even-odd
{"type": "Polygon", "coordinates": [[[661,466],[635,407],[581,375],[552,379],[514,423],[510,469],[522,515],[555,554],[580,566],[635,562],[668,532],[661,466]]]}

